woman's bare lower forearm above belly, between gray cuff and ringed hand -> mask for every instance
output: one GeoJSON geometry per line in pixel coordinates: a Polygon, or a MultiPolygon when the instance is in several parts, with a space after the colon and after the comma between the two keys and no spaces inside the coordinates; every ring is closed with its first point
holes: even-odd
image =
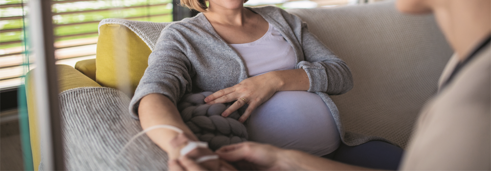
{"type": "Polygon", "coordinates": [[[277,91],[307,91],[310,86],[308,76],[303,69],[270,72],[277,81],[277,91]]]}

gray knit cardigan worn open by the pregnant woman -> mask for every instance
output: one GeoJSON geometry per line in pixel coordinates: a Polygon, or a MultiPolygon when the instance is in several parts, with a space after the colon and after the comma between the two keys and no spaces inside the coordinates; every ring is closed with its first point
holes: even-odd
{"type": "MultiPolygon", "coordinates": [[[[343,137],[338,109],[328,94],[343,94],[353,87],[346,63],[311,34],[298,16],[271,6],[249,9],[273,25],[293,47],[297,56],[295,68],[305,70],[310,81],[308,91],[324,100],[343,137]]],[[[184,94],[216,92],[246,78],[248,72],[242,58],[199,13],[162,30],[131,99],[130,114],[138,119],[140,99],[151,93],[163,94],[176,104],[184,94]]]]}

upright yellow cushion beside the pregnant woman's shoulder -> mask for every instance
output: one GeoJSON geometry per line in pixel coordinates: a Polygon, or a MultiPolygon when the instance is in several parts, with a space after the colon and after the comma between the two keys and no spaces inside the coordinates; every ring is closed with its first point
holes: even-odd
{"type": "Polygon", "coordinates": [[[99,27],[96,82],[103,87],[135,93],[152,51],[133,31],[119,24],[99,27]]]}

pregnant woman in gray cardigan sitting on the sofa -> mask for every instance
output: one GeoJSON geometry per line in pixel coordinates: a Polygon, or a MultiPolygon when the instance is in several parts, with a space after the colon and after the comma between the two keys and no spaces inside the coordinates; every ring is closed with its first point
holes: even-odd
{"type": "MultiPolygon", "coordinates": [[[[196,141],[177,111],[188,93],[215,92],[205,102],[235,101],[222,116],[248,104],[239,118],[249,140],[317,156],[340,143],[329,95],[352,88],[346,63],[333,55],[302,20],[276,7],[245,8],[244,0],[181,0],[197,16],[167,26],[148,58],[148,68],[130,103],[143,129],[174,125],[196,141]]],[[[337,112],[337,111],[336,111],[337,112]]],[[[179,156],[177,133],[147,135],[179,156]]]]}

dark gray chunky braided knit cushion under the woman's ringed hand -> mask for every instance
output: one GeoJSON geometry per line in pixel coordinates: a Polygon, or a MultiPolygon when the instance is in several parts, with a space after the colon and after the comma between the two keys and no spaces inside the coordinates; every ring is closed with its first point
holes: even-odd
{"type": "Polygon", "coordinates": [[[221,146],[247,141],[245,126],[237,121],[240,117],[237,111],[228,117],[222,117],[230,104],[205,104],[205,97],[212,92],[185,95],[177,104],[186,125],[200,141],[208,142],[211,149],[221,146]]]}

